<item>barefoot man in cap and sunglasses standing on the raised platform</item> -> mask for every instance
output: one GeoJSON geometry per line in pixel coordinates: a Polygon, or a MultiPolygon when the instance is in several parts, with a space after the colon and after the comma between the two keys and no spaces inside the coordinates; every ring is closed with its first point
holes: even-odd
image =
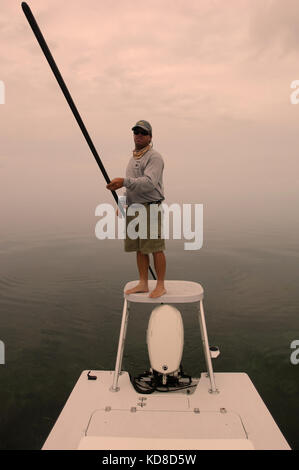
{"type": "MultiPolygon", "coordinates": [[[[166,293],[164,286],[166,259],[164,255],[165,240],[162,238],[162,214],[158,211],[158,238],[150,237],[150,207],[152,204],[162,203],[164,198],[163,169],[164,162],[161,155],[153,149],[152,126],[148,121],[138,121],[132,128],[134,133],[135,149],[126,171],[125,178],[114,178],[106,187],[115,191],[123,186],[126,188],[127,205],[142,204],[147,212],[147,238],[135,240],[128,236],[126,230],[125,251],[136,251],[139,283],[126,294],[149,292],[148,268],[149,254],[153,254],[157,284],[149,297],[156,298],[166,293]]],[[[135,216],[126,217],[126,226],[135,216]]]]}

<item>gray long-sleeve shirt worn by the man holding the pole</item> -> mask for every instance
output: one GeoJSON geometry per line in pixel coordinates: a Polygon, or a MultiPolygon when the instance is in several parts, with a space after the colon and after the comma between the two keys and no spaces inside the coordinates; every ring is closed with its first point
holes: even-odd
{"type": "Polygon", "coordinates": [[[163,158],[153,148],[139,159],[132,157],[124,179],[127,204],[164,200],[163,169],[163,158]]]}

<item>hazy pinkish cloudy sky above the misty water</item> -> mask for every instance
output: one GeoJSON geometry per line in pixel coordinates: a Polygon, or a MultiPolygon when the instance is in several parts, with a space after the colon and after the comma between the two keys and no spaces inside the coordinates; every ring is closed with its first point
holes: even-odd
{"type": "MultiPolygon", "coordinates": [[[[297,0],[28,4],[111,179],[147,119],[167,201],[203,203],[205,217],[232,224],[297,220],[297,0]]],[[[66,210],[92,220],[112,199],[20,1],[1,1],[0,38],[7,224],[66,210]]]]}

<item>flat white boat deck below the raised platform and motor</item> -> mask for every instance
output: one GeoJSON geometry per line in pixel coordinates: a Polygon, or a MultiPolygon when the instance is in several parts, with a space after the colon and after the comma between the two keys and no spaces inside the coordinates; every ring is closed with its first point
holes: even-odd
{"type": "Polygon", "coordinates": [[[196,390],[139,394],[122,372],[82,372],[43,449],[289,449],[244,373],[201,374],[196,390]]]}

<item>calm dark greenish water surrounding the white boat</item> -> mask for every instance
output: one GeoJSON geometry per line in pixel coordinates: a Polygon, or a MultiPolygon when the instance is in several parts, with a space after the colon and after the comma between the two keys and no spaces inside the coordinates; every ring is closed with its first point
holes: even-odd
{"type": "MultiPolygon", "coordinates": [[[[196,252],[168,242],[167,278],[203,285],[210,344],[221,349],[215,371],[248,373],[298,449],[299,365],[290,363],[290,343],[299,339],[299,242],[282,244],[274,235],[239,233],[224,243],[210,233],[196,252]]],[[[123,253],[122,242],[93,234],[7,236],[0,250],[0,339],[6,347],[0,448],[39,449],[81,371],[114,368],[122,289],[136,279],[135,255],[123,253]]],[[[179,308],[184,370],[197,375],[205,365],[196,313],[179,308]]],[[[124,368],[133,373],[148,368],[150,311],[132,307],[124,368]]]]}

